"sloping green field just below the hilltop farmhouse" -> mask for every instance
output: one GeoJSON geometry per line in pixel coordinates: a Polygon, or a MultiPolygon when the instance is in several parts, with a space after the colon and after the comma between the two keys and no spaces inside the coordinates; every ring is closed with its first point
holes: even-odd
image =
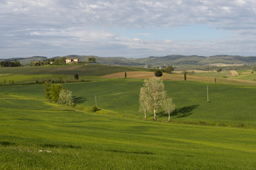
{"type": "Polygon", "coordinates": [[[107,65],[53,65],[43,67],[0,67],[0,85],[9,84],[33,84],[43,80],[75,81],[74,75],[78,74],[79,79],[95,80],[99,76],[116,72],[132,72],[142,69],[134,67],[120,67],[107,65]]]}

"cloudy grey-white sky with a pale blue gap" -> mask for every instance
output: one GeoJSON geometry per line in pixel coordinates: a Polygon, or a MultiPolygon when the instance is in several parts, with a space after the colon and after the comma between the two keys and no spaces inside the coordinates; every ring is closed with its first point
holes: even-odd
{"type": "Polygon", "coordinates": [[[256,56],[255,0],[0,0],[0,58],[256,56]]]}

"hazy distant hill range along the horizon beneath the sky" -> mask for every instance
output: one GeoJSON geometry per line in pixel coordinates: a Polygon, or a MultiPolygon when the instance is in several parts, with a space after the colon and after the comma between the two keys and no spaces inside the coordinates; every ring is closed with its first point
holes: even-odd
{"type": "MultiPolygon", "coordinates": [[[[243,57],[238,55],[214,55],[210,57],[198,55],[166,55],[162,57],[146,57],[146,58],[125,58],[125,57],[97,57],[92,55],[67,55],[67,58],[78,58],[81,62],[87,62],[89,57],[95,57],[100,64],[107,65],[123,65],[142,67],[144,65],[162,66],[166,65],[214,65],[214,64],[252,64],[256,65],[256,57],[243,57]]],[[[51,59],[58,58],[52,57],[51,59]]],[[[18,60],[21,64],[29,64],[30,62],[43,61],[48,59],[43,56],[23,57],[2,59],[2,61],[18,60]]],[[[1,60],[0,60],[1,61],[1,60]]]]}

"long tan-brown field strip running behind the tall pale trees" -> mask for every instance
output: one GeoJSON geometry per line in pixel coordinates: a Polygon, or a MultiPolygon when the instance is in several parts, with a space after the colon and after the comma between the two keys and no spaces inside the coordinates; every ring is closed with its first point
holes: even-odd
{"type": "MultiPolygon", "coordinates": [[[[154,77],[154,72],[127,72],[127,78],[131,79],[149,79],[154,77]]],[[[105,78],[110,79],[120,79],[124,78],[124,72],[108,74],[103,76],[105,78]]],[[[173,81],[184,81],[183,74],[166,74],[164,73],[161,79],[164,80],[173,80],[173,81]]],[[[187,74],[187,81],[203,81],[203,82],[212,82],[214,83],[214,77],[198,77],[187,74]]],[[[247,81],[247,80],[240,80],[240,79],[224,79],[224,78],[217,78],[217,83],[219,84],[235,84],[240,86],[256,86],[255,81],[247,81]]]]}

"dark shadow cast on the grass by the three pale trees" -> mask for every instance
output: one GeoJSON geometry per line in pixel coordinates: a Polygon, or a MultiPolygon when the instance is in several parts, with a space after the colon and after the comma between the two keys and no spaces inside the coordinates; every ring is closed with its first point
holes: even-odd
{"type": "MultiPolygon", "coordinates": [[[[198,108],[199,105],[191,105],[186,106],[183,108],[177,108],[172,113],[171,116],[177,116],[177,118],[186,118],[188,115],[192,115],[192,111],[196,108],[198,108]]],[[[158,113],[159,118],[166,117],[168,114],[166,114],[164,111],[158,113]]]]}

